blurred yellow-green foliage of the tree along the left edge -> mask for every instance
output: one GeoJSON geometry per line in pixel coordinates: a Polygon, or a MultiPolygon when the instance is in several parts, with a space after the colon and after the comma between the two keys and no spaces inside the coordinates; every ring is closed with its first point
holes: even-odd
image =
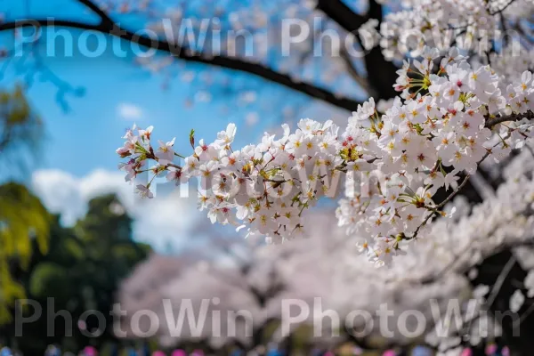
{"type": "MultiPolygon", "coordinates": [[[[42,137],[41,119],[32,112],[23,88],[0,90],[0,178],[26,171],[42,137]]],[[[28,268],[32,239],[41,253],[46,252],[49,218],[24,186],[13,182],[0,186],[0,325],[11,320],[12,304],[25,296],[12,270],[15,265],[28,268]]]]}

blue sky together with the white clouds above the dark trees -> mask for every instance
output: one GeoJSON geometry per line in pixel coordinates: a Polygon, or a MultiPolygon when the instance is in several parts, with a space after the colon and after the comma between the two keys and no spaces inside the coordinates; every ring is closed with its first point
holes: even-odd
{"type": "MultiPolygon", "coordinates": [[[[27,16],[95,20],[69,0],[0,0],[1,12],[4,20],[27,16]]],[[[129,28],[143,27],[141,18],[130,16],[121,20],[129,28]]],[[[310,106],[311,101],[299,93],[228,69],[176,61],[162,73],[151,73],[140,68],[132,51],[124,58],[115,55],[113,46],[117,39],[113,38],[104,42],[104,53],[87,58],[77,48],[81,32],[67,31],[68,37],[72,35],[71,42],[61,36],[51,41],[51,32],[44,32],[36,44],[36,57],[24,52],[22,57],[0,61],[0,88],[29,84],[28,99],[44,119],[45,144],[27,182],[51,211],[63,214],[67,224],[85,214],[88,199],[117,192],[136,218],[136,239],[165,250],[169,241],[179,246],[180,241],[194,235],[190,229],[205,213],[197,213],[191,199],[157,198],[158,204],[139,205],[132,198],[132,187],[122,182],[115,150],[122,145],[125,129],[134,122],[154,125],[157,139],[169,141],[176,136],[177,150],[188,155],[191,128],[195,129],[197,140],[213,140],[218,131],[235,122],[239,127],[236,144],[244,145],[255,142],[272,126],[279,126],[284,107],[308,111],[314,108],[314,114],[320,117],[324,115],[315,112],[316,109],[322,108],[328,115],[332,112],[321,105],[310,106]],[[64,55],[70,50],[72,56],[64,55]],[[213,84],[206,84],[206,76],[213,84]],[[62,88],[67,88],[67,92],[58,95],[62,88]],[[209,93],[213,98],[204,101],[198,93],[209,93]],[[256,100],[243,101],[241,96],[247,93],[252,93],[256,100]]],[[[10,49],[13,43],[12,33],[0,34],[0,45],[10,49]]],[[[94,45],[91,40],[87,43],[95,48],[91,47],[94,45]]],[[[121,48],[131,46],[122,43],[121,48]]],[[[155,57],[154,62],[161,58],[155,57]]]]}

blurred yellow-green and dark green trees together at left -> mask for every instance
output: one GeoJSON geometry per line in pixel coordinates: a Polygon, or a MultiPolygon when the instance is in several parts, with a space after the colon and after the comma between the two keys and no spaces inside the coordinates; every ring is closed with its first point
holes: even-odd
{"type": "MultiPolygon", "coordinates": [[[[91,200],[85,218],[72,228],[63,227],[60,216],[45,209],[23,178],[30,167],[38,166],[44,136],[44,125],[24,88],[0,90],[0,344],[16,346],[24,354],[43,354],[48,344],[77,351],[90,343],[79,325],[67,326],[61,318],[55,337],[43,337],[43,318],[24,328],[24,337],[15,341],[16,313],[33,312],[20,309],[15,300],[35,300],[44,315],[66,310],[78,320],[83,312],[96,310],[111,320],[118,281],[150,253],[148,245],[132,239],[132,219],[113,195],[91,200]],[[48,298],[54,298],[50,306],[48,298]],[[73,336],[66,338],[70,329],[73,336]]],[[[84,328],[91,331],[96,322],[89,318],[84,328]]],[[[109,328],[96,342],[110,339],[114,336],[109,328]]]]}

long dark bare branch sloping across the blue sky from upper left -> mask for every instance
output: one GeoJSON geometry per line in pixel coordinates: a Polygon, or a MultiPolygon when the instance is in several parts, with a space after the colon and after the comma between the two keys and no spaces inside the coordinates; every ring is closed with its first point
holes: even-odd
{"type": "Polygon", "coordinates": [[[181,47],[179,44],[173,44],[161,39],[152,39],[148,36],[136,35],[133,32],[121,28],[109,16],[101,11],[98,6],[94,5],[90,0],[78,0],[80,3],[85,4],[88,8],[96,12],[101,17],[99,24],[88,24],[85,22],[79,22],[74,20],[48,20],[48,19],[28,19],[28,20],[15,20],[12,22],[5,22],[0,24],[0,31],[10,30],[23,27],[49,27],[58,26],[66,28],[77,28],[83,30],[93,30],[101,32],[106,35],[117,36],[126,41],[133,42],[143,47],[154,48],[159,51],[171,53],[174,57],[180,58],[184,61],[193,61],[203,63],[207,65],[213,65],[226,69],[235,69],[249,74],[254,74],[258,77],[263,77],[266,80],[284,85],[297,92],[307,94],[308,96],[318,99],[320,101],[326,101],[331,105],[338,108],[355,111],[358,108],[360,101],[354,99],[338,96],[329,92],[326,89],[320,88],[315,85],[303,83],[295,80],[287,74],[279,73],[273,69],[267,68],[262,64],[253,63],[249,61],[242,61],[238,58],[231,58],[226,56],[207,56],[202,53],[190,53],[187,48],[181,47]]]}

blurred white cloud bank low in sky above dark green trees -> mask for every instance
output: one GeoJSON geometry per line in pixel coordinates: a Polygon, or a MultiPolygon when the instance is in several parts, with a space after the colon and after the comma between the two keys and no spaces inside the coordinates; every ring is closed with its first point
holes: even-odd
{"type": "Polygon", "coordinates": [[[205,214],[196,210],[192,194],[180,197],[178,190],[142,199],[134,186],[125,182],[124,174],[95,170],[77,178],[60,170],[39,170],[33,174],[32,187],[44,206],[61,214],[61,223],[71,226],[83,218],[87,203],[103,194],[115,193],[130,216],[134,218],[134,239],[146,241],[162,250],[168,241],[182,243],[190,228],[205,214]]]}

